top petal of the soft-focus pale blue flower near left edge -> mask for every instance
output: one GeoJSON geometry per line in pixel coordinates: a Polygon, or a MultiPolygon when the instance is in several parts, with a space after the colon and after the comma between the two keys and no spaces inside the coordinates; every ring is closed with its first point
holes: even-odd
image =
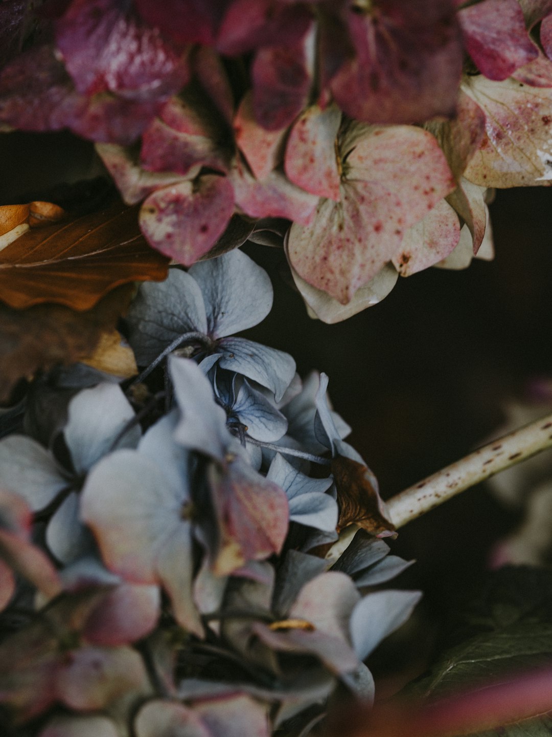
{"type": "MultiPolygon", "coordinates": [[[[123,427],[135,416],[118,384],[103,383],[83,389],[68,407],[68,422],[63,430],[74,469],[83,473],[109,453],[123,427]]],[[[139,423],[121,436],[117,448],[136,447],[141,436],[139,423]]]]}

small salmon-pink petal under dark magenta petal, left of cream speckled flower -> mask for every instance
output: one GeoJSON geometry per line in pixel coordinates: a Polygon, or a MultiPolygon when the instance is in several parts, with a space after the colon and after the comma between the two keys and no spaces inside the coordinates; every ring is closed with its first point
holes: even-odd
{"type": "Polygon", "coordinates": [[[241,100],[233,128],[236,143],[247,158],[255,178],[266,178],[282,160],[287,128],[266,130],[258,124],[253,115],[251,91],[241,100]]]}

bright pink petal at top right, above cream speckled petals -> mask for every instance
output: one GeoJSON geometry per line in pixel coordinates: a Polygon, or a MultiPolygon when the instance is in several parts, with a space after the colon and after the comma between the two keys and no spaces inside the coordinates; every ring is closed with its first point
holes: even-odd
{"type": "Polygon", "coordinates": [[[467,51],[490,80],[505,80],[539,55],[517,0],[484,0],[460,10],[459,20],[467,51]]]}

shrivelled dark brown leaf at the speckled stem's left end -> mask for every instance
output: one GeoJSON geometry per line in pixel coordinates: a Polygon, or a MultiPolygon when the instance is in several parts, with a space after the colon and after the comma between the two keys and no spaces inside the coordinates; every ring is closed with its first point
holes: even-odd
{"type": "Polygon", "coordinates": [[[337,531],[354,523],[379,537],[393,534],[394,525],[383,514],[378,492],[368,480],[367,467],[352,458],[338,455],[332,459],[331,469],[339,506],[337,531]]]}

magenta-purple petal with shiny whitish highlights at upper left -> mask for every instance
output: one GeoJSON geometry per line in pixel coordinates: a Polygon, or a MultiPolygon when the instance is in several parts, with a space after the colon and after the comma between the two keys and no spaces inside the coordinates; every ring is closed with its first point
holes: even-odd
{"type": "Polygon", "coordinates": [[[181,55],[117,0],[73,0],[57,21],[56,41],[77,90],[85,94],[166,97],[188,81],[181,55]]]}

